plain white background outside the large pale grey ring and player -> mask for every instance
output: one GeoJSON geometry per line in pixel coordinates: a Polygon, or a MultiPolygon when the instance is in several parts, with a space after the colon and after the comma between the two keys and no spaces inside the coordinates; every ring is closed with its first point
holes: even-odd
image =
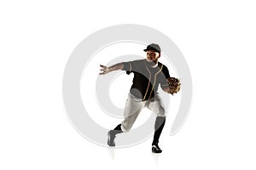
{"type": "MultiPolygon", "coordinates": [[[[1,1],[0,169],[255,169],[252,1],[1,1]],[[68,121],[61,81],[85,37],[118,24],[151,26],[183,52],[193,103],[183,128],[109,150],[68,121]]],[[[168,127],[168,126],[167,126],[168,127]]]]}

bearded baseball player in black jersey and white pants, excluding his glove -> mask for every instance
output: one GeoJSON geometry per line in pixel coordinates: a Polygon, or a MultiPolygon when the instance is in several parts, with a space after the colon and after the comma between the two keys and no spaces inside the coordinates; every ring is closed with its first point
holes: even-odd
{"type": "Polygon", "coordinates": [[[170,75],[166,65],[158,61],[161,52],[158,44],[152,43],[144,51],[147,52],[146,59],[122,62],[110,67],[101,65],[102,72],[100,75],[117,70],[126,71],[128,75],[131,72],[134,73],[133,83],[125,105],[125,120],[108,132],[108,145],[115,146],[114,138],[116,134],[129,131],[138,114],[144,107],[147,107],[157,115],[154,124],[152,152],[161,153],[162,150],[158,143],[160,133],[165,126],[166,111],[157,90],[160,85],[165,92],[168,92],[169,88],[166,79],[170,75]]]}

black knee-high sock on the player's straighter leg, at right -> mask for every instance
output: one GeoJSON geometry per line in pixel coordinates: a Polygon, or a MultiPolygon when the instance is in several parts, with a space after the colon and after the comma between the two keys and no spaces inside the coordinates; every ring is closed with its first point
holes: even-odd
{"type": "Polygon", "coordinates": [[[165,116],[157,116],[155,123],[154,123],[154,139],[152,144],[158,144],[160,134],[162,133],[162,130],[166,123],[166,117],[165,116]]]}

